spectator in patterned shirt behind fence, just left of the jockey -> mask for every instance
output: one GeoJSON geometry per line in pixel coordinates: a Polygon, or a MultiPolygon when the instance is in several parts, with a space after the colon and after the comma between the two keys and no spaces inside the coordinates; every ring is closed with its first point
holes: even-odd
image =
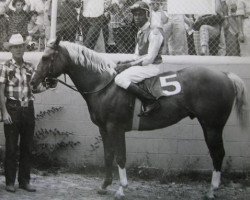
{"type": "Polygon", "coordinates": [[[127,0],[113,0],[109,7],[110,26],[114,34],[117,53],[132,53],[136,33],[132,32],[133,14],[127,0]]]}

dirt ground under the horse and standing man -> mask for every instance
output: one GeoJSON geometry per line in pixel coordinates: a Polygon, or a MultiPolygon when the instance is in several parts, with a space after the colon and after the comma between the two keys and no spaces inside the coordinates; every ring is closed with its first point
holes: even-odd
{"type": "MultiPolygon", "coordinates": [[[[102,182],[98,175],[82,175],[71,173],[32,174],[31,183],[36,186],[36,193],[17,189],[12,194],[5,191],[4,176],[0,175],[1,200],[111,200],[114,199],[119,187],[115,179],[109,187],[107,195],[97,194],[102,182]]],[[[17,186],[16,186],[17,187],[17,186]]],[[[159,181],[144,181],[129,179],[129,187],[125,191],[127,200],[201,200],[209,188],[207,181],[185,181],[183,183],[169,182],[160,184],[159,181]]],[[[220,200],[250,200],[250,186],[240,182],[222,184],[216,193],[220,200]]]]}

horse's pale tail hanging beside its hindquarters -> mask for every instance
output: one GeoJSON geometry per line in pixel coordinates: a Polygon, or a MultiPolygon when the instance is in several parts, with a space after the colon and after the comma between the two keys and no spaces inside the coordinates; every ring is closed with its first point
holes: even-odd
{"type": "Polygon", "coordinates": [[[243,80],[233,73],[227,74],[228,78],[234,84],[235,90],[235,109],[240,121],[240,125],[246,128],[248,124],[248,109],[247,109],[247,89],[243,80]]]}

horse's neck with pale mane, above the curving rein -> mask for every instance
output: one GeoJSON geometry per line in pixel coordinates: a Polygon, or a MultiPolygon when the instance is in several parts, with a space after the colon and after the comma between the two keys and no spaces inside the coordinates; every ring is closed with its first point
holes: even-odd
{"type": "Polygon", "coordinates": [[[114,63],[82,46],[71,43],[65,43],[65,46],[71,58],[67,74],[80,92],[100,90],[113,79],[114,63]]]}

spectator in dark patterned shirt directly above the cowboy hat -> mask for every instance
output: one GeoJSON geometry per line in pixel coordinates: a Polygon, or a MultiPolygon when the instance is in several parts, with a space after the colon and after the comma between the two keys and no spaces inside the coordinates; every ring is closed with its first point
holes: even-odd
{"type": "Polygon", "coordinates": [[[27,9],[24,11],[24,0],[13,0],[12,6],[15,10],[8,9],[6,14],[9,16],[9,37],[13,34],[20,33],[23,38],[28,34],[29,10],[30,4],[27,2],[27,9]]]}

